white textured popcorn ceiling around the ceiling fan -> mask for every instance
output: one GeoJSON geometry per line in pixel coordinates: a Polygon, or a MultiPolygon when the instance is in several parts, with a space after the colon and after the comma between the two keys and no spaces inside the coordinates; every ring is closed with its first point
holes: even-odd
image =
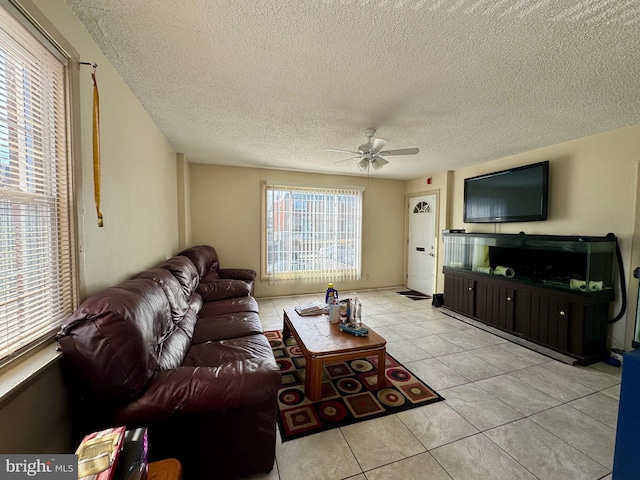
{"type": "Polygon", "coordinates": [[[375,128],[410,179],[640,123],[640,0],[67,3],[191,162],[359,175],[324,149],[375,128]]]}

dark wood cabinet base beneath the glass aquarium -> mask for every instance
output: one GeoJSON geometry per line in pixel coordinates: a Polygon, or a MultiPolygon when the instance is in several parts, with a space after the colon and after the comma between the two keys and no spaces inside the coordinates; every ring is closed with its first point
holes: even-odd
{"type": "Polygon", "coordinates": [[[607,357],[611,290],[583,293],[444,267],[444,305],[494,328],[569,355],[581,365],[607,357]]]}

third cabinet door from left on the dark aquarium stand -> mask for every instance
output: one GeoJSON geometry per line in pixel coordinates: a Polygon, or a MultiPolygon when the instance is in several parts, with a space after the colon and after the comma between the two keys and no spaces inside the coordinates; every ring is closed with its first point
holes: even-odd
{"type": "Polygon", "coordinates": [[[535,342],[567,351],[570,307],[565,299],[518,291],[513,329],[535,342]]]}

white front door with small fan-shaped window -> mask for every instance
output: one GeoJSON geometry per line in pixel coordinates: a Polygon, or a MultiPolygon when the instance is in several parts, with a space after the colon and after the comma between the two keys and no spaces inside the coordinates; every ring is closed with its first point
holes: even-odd
{"type": "Polygon", "coordinates": [[[436,244],[436,195],[409,199],[407,288],[433,294],[436,244]]]}

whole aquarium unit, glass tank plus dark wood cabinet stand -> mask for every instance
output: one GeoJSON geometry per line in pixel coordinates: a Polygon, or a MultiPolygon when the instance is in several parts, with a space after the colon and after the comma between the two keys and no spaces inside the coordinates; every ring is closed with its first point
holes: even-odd
{"type": "Polygon", "coordinates": [[[608,355],[609,303],[614,299],[610,285],[615,237],[589,237],[586,243],[576,238],[445,234],[444,306],[575,358],[579,364],[603,360],[608,355]],[[611,242],[613,246],[608,245],[611,242]],[[540,277],[539,272],[558,272],[562,265],[556,263],[566,265],[565,255],[572,257],[574,275],[589,279],[591,268],[598,272],[598,280],[604,278],[598,284],[605,288],[581,291],[569,288],[570,279],[566,277],[562,280],[566,284],[558,278],[540,277]],[[580,267],[583,257],[584,267],[580,267]],[[512,265],[520,262],[515,270],[523,275],[507,278],[478,271],[493,271],[496,260],[512,265]],[[603,262],[606,265],[596,265],[603,262]]]}

